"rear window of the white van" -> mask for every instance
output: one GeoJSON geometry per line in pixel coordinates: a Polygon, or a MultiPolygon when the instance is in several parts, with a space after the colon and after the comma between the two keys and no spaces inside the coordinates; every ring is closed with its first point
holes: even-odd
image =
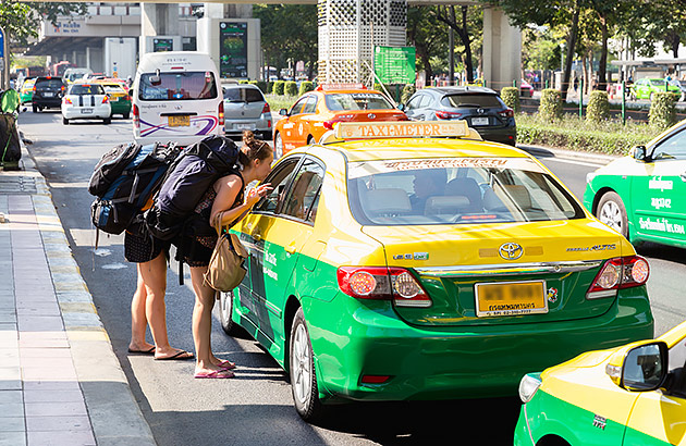
{"type": "Polygon", "coordinates": [[[155,73],[140,75],[140,100],[193,100],[217,98],[217,83],[211,72],[160,73],[160,82],[152,84],[155,73]]]}

